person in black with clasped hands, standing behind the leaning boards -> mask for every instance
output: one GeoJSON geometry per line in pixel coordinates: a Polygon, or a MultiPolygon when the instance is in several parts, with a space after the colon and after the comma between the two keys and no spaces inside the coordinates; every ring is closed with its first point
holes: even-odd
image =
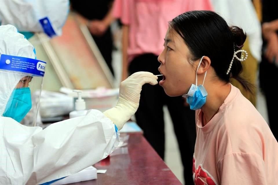
{"type": "Polygon", "coordinates": [[[88,29],[112,75],[114,75],[112,68],[113,36],[110,29],[110,24],[114,21],[111,12],[113,0],[70,0],[70,3],[74,11],[89,20],[88,29]]]}

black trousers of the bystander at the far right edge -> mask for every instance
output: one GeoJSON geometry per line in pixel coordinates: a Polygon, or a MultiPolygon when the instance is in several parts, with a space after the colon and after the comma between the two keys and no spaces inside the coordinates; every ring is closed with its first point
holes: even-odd
{"type": "Polygon", "coordinates": [[[269,126],[270,129],[278,141],[278,124],[276,120],[278,98],[277,92],[274,88],[277,88],[278,82],[278,67],[275,64],[268,62],[264,56],[260,63],[260,87],[266,97],[266,106],[268,112],[269,126]]]}

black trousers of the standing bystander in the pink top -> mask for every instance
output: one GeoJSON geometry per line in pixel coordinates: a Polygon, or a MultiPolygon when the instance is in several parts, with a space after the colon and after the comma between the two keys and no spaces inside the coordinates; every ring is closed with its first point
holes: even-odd
{"type": "MultiPolygon", "coordinates": [[[[157,61],[158,56],[144,54],[136,57],[129,65],[129,73],[148,71],[153,74],[160,74],[157,61]]],[[[163,106],[167,105],[180,154],[184,166],[184,179],[186,185],[193,184],[193,153],[196,140],[195,111],[184,106],[182,97],[169,97],[159,85],[152,86],[145,84],[142,87],[140,105],[135,113],[138,125],[143,129],[145,138],[164,159],[165,133],[163,106]]]]}

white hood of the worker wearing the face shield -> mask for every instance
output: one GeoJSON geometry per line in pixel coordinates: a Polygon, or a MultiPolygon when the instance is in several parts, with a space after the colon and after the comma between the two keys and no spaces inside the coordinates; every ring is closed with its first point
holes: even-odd
{"type": "MultiPolygon", "coordinates": [[[[1,55],[12,55],[35,59],[33,45],[12,25],[0,26],[0,58],[1,55]]],[[[19,80],[29,73],[6,71],[0,69],[0,115],[6,108],[7,102],[19,80]]]]}

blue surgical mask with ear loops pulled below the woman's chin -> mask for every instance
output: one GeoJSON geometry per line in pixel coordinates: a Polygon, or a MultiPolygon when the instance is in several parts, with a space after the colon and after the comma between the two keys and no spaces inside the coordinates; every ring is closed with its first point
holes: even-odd
{"type": "Polygon", "coordinates": [[[184,94],[182,97],[186,98],[186,102],[189,104],[191,110],[200,109],[206,103],[206,96],[208,93],[204,88],[204,81],[206,78],[206,72],[203,80],[203,84],[197,86],[197,71],[202,63],[204,56],[202,56],[199,65],[196,70],[196,84],[192,84],[188,93],[184,94]]]}

